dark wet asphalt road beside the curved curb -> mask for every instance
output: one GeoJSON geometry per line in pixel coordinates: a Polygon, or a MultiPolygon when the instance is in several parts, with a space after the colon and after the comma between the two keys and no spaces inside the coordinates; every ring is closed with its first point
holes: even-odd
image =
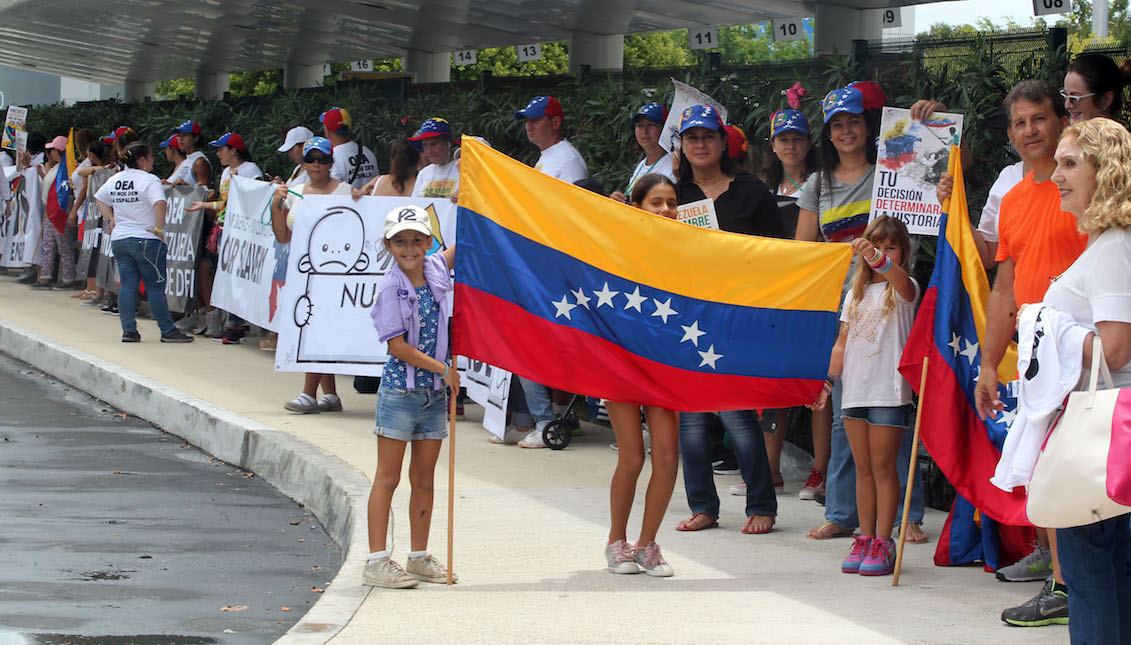
{"type": "Polygon", "coordinates": [[[270,643],[339,561],[259,478],[0,354],[0,645],[270,643]]]}

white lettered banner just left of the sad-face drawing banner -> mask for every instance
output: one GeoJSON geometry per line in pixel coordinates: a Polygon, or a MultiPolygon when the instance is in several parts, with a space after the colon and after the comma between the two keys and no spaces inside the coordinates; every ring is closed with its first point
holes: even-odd
{"type": "Polygon", "coordinates": [[[211,306],[277,332],[277,290],[282,283],[274,285],[271,278],[277,263],[285,266],[286,255],[271,231],[274,194],[275,186],[266,181],[232,178],[211,306]]]}

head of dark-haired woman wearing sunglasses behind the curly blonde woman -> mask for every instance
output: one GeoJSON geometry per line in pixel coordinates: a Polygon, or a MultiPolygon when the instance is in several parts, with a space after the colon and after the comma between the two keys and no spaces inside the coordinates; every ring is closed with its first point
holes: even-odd
{"type": "Polygon", "coordinates": [[[1103,54],[1080,54],[1064,75],[1064,108],[1072,123],[1095,117],[1119,120],[1123,112],[1123,88],[1131,81],[1131,61],[1116,64],[1103,54]]]}

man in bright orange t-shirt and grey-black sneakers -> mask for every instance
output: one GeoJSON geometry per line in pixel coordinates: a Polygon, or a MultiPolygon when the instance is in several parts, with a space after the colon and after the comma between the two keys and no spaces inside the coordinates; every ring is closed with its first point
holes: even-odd
{"type": "MultiPolygon", "coordinates": [[[[1010,140],[1031,172],[1001,200],[998,246],[998,280],[986,308],[986,332],[974,402],[983,418],[1003,408],[998,399],[998,366],[1005,355],[1021,304],[1041,302],[1056,276],[1083,252],[1087,236],[1076,216],[1061,210],[1060,191],[1052,182],[1053,153],[1068,112],[1060,93],[1044,80],[1022,80],[1005,96],[1010,140]]],[[[1056,562],[1055,532],[1037,530],[1042,544],[1020,562],[1003,567],[998,578],[1007,582],[1041,579],[1052,567],[1053,579],[1033,600],[1007,609],[1002,620],[1036,627],[1068,622],[1068,591],[1056,562]]]]}

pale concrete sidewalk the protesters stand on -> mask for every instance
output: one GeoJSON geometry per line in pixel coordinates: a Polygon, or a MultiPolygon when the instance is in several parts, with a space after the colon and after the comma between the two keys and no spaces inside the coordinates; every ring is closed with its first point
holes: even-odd
{"type": "MultiPolygon", "coordinates": [[[[0,319],[55,338],[170,387],[292,433],[371,478],[377,463],[373,396],[339,378],[345,412],[294,415],[283,410],[302,376],[277,373],[254,344],[158,342],[140,320],[140,344],[122,344],[116,317],[80,308],[70,292],[36,292],[0,276],[0,319]]],[[[0,347],[0,351],[3,349],[0,347]]],[[[817,542],[804,532],[821,507],[779,498],[768,535],[743,535],[742,500],[725,494],[737,478],[717,478],[720,528],[677,533],[688,515],[682,484],[659,542],[673,578],[614,576],[603,569],[612,432],[588,425],[563,452],[495,446],[468,406],[456,432],[456,571],[452,588],[374,590],[331,643],[1068,643],[1063,627],[1010,628],[999,616],[1039,591],[1039,583],[996,582],[981,568],[932,565],[944,515],[927,511],[927,545],[908,545],[898,588],[891,578],[846,576],[846,540],[817,542]],[[429,594],[425,596],[424,594],[429,594]]],[[[159,424],[161,420],[152,420],[159,424]]],[[[432,550],[446,554],[447,452],[437,472],[432,550]]],[[[641,485],[647,483],[646,468],[641,485]]],[[[394,504],[395,557],[407,549],[407,482],[394,504]]],[[[642,491],[633,509],[639,526],[642,491]]],[[[343,570],[347,584],[360,571],[343,570]],[[355,576],[351,579],[351,576],[355,576]]]]}

